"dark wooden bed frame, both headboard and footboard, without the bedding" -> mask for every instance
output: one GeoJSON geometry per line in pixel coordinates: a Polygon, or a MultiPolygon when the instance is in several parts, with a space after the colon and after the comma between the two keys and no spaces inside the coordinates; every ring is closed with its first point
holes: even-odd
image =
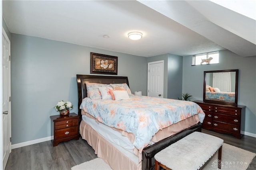
{"type": "MultiPolygon", "coordinates": [[[[126,83],[129,86],[128,77],[121,76],[96,76],[96,75],[76,75],[77,79],[77,88],[78,88],[78,115],[79,125],[82,120],[80,105],[82,99],[87,97],[86,82],[91,83],[102,83],[102,84],[114,84],[114,83],[126,83]]],[[[154,155],[162,149],[165,149],[172,143],[182,139],[183,137],[193,133],[194,131],[202,130],[202,124],[199,122],[197,125],[194,125],[190,128],[184,129],[183,131],[176,133],[166,139],[159,141],[149,147],[146,147],[142,151],[142,170],[153,170],[154,169],[154,155]]]]}

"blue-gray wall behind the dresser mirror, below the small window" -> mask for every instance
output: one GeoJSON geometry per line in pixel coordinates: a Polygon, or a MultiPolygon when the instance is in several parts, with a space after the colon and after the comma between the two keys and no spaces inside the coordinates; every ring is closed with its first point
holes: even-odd
{"type": "Polygon", "coordinates": [[[203,100],[204,71],[239,69],[238,105],[246,106],[242,124],[248,133],[256,134],[256,56],[239,57],[231,51],[220,51],[219,64],[191,66],[192,56],[183,57],[182,92],[193,95],[193,100],[203,100]]]}

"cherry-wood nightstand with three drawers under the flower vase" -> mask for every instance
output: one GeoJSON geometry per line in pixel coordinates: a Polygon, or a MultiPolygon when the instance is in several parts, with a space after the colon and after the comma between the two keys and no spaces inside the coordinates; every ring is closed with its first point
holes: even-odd
{"type": "Polygon", "coordinates": [[[71,139],[79,139],[78,134],[78,118],[76,113],[69,113],[68,115],[53,115],[51,118],[51,129],[53,139],[53,146],[57,146],[60,142],[66,142],[71,139]]]}

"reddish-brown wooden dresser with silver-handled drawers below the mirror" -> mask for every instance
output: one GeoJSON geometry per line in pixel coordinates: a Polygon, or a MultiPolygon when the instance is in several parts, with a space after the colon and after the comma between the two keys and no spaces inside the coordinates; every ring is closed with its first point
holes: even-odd
{"type": "Polygon", "coordinates": [[[202,128],[218,133],[228,133],[238,139],[241,138],[241,124],[244,125],[242,115],[245,114],[246,106],[226,106],[205,103],[198,100],[194,102],[198,104],[205,113],[202,128]]]}

